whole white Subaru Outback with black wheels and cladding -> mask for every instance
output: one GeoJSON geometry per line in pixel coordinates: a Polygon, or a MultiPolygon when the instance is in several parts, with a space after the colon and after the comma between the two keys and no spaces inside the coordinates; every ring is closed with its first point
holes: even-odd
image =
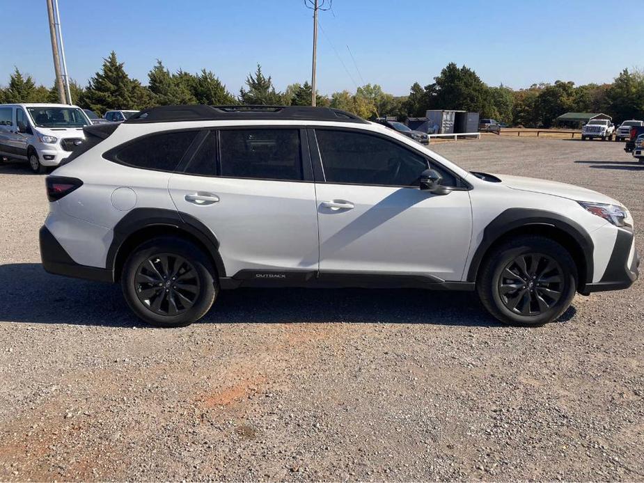
{"type": "Polygon", "coordinates": [[[618,201],[469,173],[336,109],[164,106],[85,132],[47,177],[42,264],[120,282],[157,326],[251,286],[476,290],[501,322],[537,325],[638,276],[618,201]]]}

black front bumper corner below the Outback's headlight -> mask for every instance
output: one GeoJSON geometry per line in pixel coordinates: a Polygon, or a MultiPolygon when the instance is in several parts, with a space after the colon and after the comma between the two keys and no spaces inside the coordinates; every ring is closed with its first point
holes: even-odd
{"type": "Polygon", "coordinates": [[[634,245],[634,232],[620,229],[602,280],[586,284],[580,292],[588,295],[590,292],[626,289],[637,280],[639,266],[640,256],[634,245]]]}

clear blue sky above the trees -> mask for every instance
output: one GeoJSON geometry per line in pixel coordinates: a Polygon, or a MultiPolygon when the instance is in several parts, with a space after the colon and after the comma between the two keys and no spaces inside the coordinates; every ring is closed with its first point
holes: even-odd
{"type": "MultiPolygon", "coordinates": [[[[626,22],[643,12],[640,1],[617,12],[599,0],[334,0],[320,13],[317,87],[355,90],[364,79],[405,95],[450,61],[493,86],[608,82],[644,51],[644,26],[626,22]]],[[[170,70],[212,70],[233,93],[257,63],[278,89],[311,77],[313,21],[302,0],[58,2],[68,70],[81,84],[111,50],[143,84],[157,58],[170,70]]],[[[51,86],[45,0],[0,0],[0,18],[0,84],[17,66],[51,86]]]]}

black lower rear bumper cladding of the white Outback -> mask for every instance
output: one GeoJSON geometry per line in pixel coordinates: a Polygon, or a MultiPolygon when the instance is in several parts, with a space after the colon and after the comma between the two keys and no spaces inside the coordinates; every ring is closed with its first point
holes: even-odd
{"type": "Polygon", "coordinates": [[[85,278],[97,282],[114,281],[111,270],[88,267],[74,262],[46,226],[40,228],[40,260],[42,260],[42,267],[50,274],[85,278]]]}

